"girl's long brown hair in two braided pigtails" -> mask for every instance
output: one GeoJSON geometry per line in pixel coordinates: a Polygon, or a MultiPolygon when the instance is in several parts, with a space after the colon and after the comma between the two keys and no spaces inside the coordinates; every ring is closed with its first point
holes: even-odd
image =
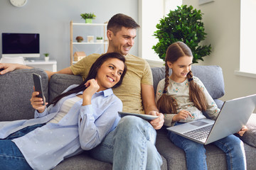
{"type": "MultiPolygon", "coordinates": [[[[176,100],[171,96],[167,95],[167,87],[169,86],[169,67],[167,62],[174,63],[178,60],[179,57],[193,57],[191,49],[183,42],[174,42],[171,44],[168,49],[166,50],[166,59],[165,59],[165,67],[166,67],[166,74],[165,74],[165,84],[164,84],[164,93],[156,102],[156,106],[161,113],[174,113],[176,114],[178,104],[176,100]]],[[[195,104],[196,108],[200,111],[206,111],[207,104],[206,104],[206,97],[201,90],[200,86],[193,81],[193,74],[192,72],[188,72],[187,78],[189,81],[189,97],[191,101],[195,104]]]]}

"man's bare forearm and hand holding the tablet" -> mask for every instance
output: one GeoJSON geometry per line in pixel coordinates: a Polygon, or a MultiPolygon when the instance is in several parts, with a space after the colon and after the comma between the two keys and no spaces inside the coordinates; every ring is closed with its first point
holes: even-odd
{"type": "Polygon", "coordinates": [[[151,120],[150,124],[158,130],[164,125],[164,115],[159,113],[154,100],[154,88],[152,85],[142,84],[142,103],[146,114],[158,115],[159,118],[151,120]]]}

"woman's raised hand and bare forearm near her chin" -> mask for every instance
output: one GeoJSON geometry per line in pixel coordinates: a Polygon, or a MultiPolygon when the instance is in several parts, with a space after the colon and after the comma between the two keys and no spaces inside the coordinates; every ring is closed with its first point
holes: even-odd
{"type": "Polygon", "coordinates": [[[92,95],[95,94],[99,89],[100,86],[97,84],[96,79],[90,79],[85,83],[87,89],[82,92],[82,106],[90,105],[92,100],[92,95]]]}

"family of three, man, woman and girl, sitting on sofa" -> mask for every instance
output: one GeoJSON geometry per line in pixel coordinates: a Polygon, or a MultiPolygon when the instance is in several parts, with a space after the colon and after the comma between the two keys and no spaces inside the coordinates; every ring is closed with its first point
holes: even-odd
{"type": "MultiPolygon", "coordinates": [[[[47,106],[34,91],[35,118],[0,122],[0,167],[53,169],[63,159],[90,150],[92,157],[110,162],[113,169],[161,169],[156,130],[205,118],[203,111],[215,120],[220,110],[200,79],[193,77],[193,55],[183,42],[174,42],[166,50],[165,79],[159,81],[154,95],[149,64],[129,54],[137,28],[133,18],[118,13],[107,24],[105,54],[88,55],[58,72],[46,71],[49,79],[58,73],[80,75],[84,81],[69,86],[47,106]],[[147,121],[128,115],[121,119],[118,111],[159,117],[147,121]]],[[[1,76],[31,67],[0,63],[0,69],[1,76]]],[[[167,136],[186,153],[188,169],[207,169],[203,145],[173,132],[167,136]]],[[[238,137],[229,135],[213,145],[226,153],[228,169],[246,169],[245,150],[238,137]]]]}

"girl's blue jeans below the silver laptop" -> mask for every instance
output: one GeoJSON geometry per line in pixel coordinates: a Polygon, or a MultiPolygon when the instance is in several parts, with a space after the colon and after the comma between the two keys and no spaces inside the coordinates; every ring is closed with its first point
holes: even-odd
{"type": "MultiPolygon", "coordinates": [[[[176,123],[178,125],[179,123],[176,123]]],[[[206,149],[202,144],[188,140],[185,137],[168,132],[168,137],[174,145],[184,150],[187,169],[207,169],[206,149]]],[[[229,135],[213,142],[226,154],[228,169],[246,169],[245,149],[243,142],[235,135],[229,135]]]]}

